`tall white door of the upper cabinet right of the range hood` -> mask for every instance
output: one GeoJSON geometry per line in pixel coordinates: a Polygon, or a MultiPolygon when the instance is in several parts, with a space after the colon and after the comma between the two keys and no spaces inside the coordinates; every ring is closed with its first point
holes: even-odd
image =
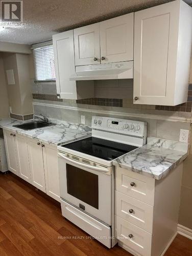
{"type": "Polygon", "coordinates": [[[174,1],[135,12],[136,104],[174,104],[179,8],[174,1]]]}

